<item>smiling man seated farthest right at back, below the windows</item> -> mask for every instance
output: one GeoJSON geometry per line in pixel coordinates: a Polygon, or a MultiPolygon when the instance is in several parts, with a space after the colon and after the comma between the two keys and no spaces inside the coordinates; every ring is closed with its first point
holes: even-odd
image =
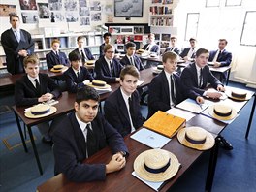
{"type": "MultiPolygon", "coordinates": [[[[229,66],[232,61],[232,53],[227,51],[225,47],[227,46],[228,41],[226,39],[219,39],[219,44],[217,50],[211,50],[209,52],[208,61],[214,62],[213,67],[225,67],[229,66]]],[[[212,73],[218,80],[221,82],[225,81],[227,78],[227,73],[212,73]]]]}

